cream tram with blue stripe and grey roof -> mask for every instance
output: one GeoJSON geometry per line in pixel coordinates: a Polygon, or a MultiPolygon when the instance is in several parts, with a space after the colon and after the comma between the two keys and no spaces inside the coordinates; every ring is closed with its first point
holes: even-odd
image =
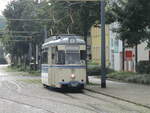
{"type": "Polygon", "coordinates": [[[58,35],[42,45],[42,84],[83,89],[86,82],[85,42],[76,35],[58,35]]]}

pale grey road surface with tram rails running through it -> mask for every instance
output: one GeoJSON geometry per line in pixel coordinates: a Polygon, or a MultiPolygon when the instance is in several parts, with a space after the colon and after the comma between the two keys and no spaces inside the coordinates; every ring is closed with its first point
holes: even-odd
{"type": "Polygon", "coordinates": [[[0,113],[150,113],[150,109],[93,92],[44,88],[40,77],[0,65],[0,113]]]}

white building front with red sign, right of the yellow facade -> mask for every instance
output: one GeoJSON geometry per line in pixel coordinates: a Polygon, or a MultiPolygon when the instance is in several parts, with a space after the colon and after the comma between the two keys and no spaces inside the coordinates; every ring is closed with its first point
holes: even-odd
{"type": "MultiPolygon", "coordinates": [[[[123,44],[119,40],[118,34],[113,32],[114,28],[117,28],[118,23],[113,23],[110,25],[110,68],[116,71],[122,71],[123,67],[123,44]]],[[[150,52],[147,48],[147,43],[143,42],[138,45],[138,62],[150,60],[150,52]]],[[[125,71],[135,71],[135,47],[125,48],[125,71]]]]}

